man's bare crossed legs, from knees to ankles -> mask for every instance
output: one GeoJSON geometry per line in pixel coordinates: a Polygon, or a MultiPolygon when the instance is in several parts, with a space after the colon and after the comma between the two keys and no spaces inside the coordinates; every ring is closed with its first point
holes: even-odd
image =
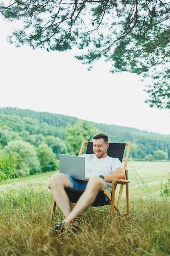
{"type": "Polygon", "coordinates": [[[53,193],[56,204],[65,217],[63,222],[71,223],[77,226],[76,219],[94,202],[97,193],[99,191],[104,191],[106,183],[97,176],[91,177],[84,193],[79,198],[72,211],[68,196],[64,189],[67,187],[73,187],[71,180],[62,173],[55,173],[53,176],[51,176],[49,187],[53,193]]]}

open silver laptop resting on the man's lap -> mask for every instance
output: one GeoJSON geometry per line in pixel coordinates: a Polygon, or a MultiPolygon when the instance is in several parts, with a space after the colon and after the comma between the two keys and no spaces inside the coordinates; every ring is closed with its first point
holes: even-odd
{"type": "Polygon", "coordinates": [[[60,154],[60,173],[76,180],[85,179],[85,157],[60,154]]]}

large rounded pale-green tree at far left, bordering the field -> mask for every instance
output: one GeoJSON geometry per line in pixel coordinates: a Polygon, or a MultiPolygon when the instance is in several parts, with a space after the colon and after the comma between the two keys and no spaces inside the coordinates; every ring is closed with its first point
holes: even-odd
{"type": "Polygon", "coordinates": [[[34,146],[29,142],[21,140],[10,141],[7,146],[0,151],[0,155],[9,154],[9,157],[17,159],[17,169],[20,175],[29,175],[31,169],[38,170],[38,161],[34,146]]]}

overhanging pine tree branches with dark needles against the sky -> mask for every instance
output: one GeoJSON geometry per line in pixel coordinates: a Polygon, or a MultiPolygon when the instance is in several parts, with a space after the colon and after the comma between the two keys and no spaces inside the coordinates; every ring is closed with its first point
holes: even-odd
{"type": "Polygon", "coordinates": [[[169,1],[16,0],[1,2],[0,12],[8,21],[22,21],[10,43],[47,51],[88,49],[77,58],[89,69],[104,56],[112,72],[150,76],[146,102],[170,108],[169,1]]]}

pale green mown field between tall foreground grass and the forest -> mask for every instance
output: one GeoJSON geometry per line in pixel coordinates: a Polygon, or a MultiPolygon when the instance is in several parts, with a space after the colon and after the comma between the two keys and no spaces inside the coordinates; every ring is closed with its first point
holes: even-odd
{"type": "MultiPolygon", "coordinates": [[[[166,184],[170,178],[170,162],[128,162],[128,177],[130,180],[129,192],[130,198],[135,198],[139,195],[151,194],[159,197],[161,182],[166,184]]],[[[0,185],[0,192],[15,191],[20,187],[33,186],[36,189],[43,187],[48,189],[49,174],[40,173],[38,175],[31,175],[13,179],[9,184],[0,185]]],[[[49,190],[50,191],[50,190],[49,190]]]]}

